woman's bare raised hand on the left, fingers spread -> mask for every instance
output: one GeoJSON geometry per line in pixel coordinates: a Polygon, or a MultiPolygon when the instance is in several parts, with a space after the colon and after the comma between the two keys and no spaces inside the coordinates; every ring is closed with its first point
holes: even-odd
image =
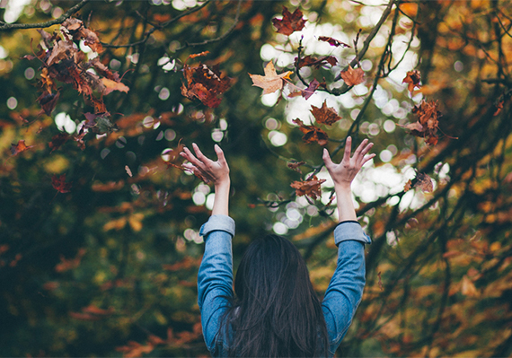
{"type": "Polygon", "coordinates": [[[208,159],[207,156],[199,150],[198,144],[193,143],[192,148],[196,155],[190,152],[190,149],[187,147],[183,148],[183,152],[180,153],[183,158],[189,161],[188,163],[183,163],[185,169],[198,175],[199,178],[202,178],[207,184],[210,182],[215,186],[229,184],[229,166],[225,161],[224,152],[217,144],[215,144],[214,147],[217,156],[216,162],[208,159]]]}

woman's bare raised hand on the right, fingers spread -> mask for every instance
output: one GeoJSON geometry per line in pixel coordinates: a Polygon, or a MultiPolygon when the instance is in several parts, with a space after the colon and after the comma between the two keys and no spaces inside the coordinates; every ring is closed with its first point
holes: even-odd
{"type": "Polygon", "coordinates": [[[335,188],[350,188],[350,183],[356,178],[356,175],[363,165],[375,157],[375,153],[366,155],[373,145],[373,143],[368,143],[367,139],[363,140],[363,142],[359,144],[358,149],[354,152],[354,155],[350,158],[352,138],[348,136],[347,142],[345,143],[345,153],[339,164],[332,162],[327,149],[323,149],[322,159],[325,163],[325,168],[327,168],[334,181],[335,188]]]}

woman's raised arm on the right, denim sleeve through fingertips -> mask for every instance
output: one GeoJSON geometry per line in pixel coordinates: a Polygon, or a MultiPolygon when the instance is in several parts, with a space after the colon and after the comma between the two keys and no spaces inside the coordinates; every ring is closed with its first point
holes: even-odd
{"type": "Polygon", "coordinates": [[[322,301],[331,354],[334,354],[341,339],[347,333],[361,301],[365,287],[364,244],[371,242],[357,222],[350,184],[363,164],[375,156],[375,154],[366,155],[373,144],[368,144],[365,139],[350,157],[351,144],[352,139],[348,137],[345,153],[339,164],[331,161],[326,149],[323,151],[323,162],[334,181],[340,221],[334,230],[334,242],[338,246],[338,262],[322,301]]]}

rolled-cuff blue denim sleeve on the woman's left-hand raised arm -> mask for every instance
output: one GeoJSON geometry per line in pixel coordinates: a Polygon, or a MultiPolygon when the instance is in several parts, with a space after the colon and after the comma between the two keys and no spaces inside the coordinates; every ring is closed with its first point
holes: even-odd
{"type": "Polygon", "coordinates": [[[198,303],[203,336],[208,350],[216,351],[220,319],[233,297],[234,220],[226,215],[212,215],[199,234],[205,238],[205,254],[199,266],[198,303]]]}

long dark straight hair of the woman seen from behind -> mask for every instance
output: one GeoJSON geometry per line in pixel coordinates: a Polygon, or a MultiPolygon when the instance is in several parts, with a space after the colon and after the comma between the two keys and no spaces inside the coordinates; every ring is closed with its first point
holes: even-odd
{"type": "Polygon", "coordinates": [[[221,331],[239,357],[326,356],[327,327],[305,260],[277,235],[254,240],[234,281],[221,331]]]}

